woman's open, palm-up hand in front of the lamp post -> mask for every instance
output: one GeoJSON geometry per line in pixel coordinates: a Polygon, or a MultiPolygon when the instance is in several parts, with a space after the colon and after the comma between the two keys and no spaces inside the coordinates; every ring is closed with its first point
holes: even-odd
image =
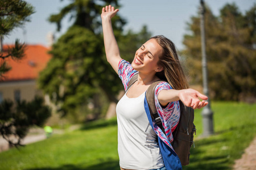
{"type": "Polygon", "coordinates": [[[184,89],[179,91],[179,98],[187,107],[192,107],[193,109],[201,109],[208,104],[208,97],[200,94],[200,92],[193,90],[192,88],[184,89]],[[201,101],[200,99],[203,99],[201,101]]]}

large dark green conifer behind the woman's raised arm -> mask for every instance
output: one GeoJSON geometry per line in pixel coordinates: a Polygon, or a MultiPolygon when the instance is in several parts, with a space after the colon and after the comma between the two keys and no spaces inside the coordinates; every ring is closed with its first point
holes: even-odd
{"type": "MultiPolygon", "coordinates": [[[[50,52],[53,57],[39,78],[40,87],[63,115],[75,114],[77,108],[91,102],[94,108],[102,108],[102,103],[118,101],[117,94],[122,84],[106,61],[100,18],[102,6],[109,4],[118,7],[117,0],[74,0],[59,14],[49,18],[50,22],[57,24],[57,30],[61,29],[64,16],[69,15],[73,21],[68,31],[53,44],[50,52]],[[108,101],[101,101],[101,96],[106,96],[108,101]]],[[[130,54],[130,49],[135,52],[138,46],[131,48],[131,40],[139,37],[132,31],[123,34],[126,22],[119,15],[113,18],[112,23],[121,52],[129,50],[130,54]]],[[[146,27],[143,30],[147,36],[146,27]]],[[[94,109],[94,118],[101,112],[102,109],[94,109]]]]}

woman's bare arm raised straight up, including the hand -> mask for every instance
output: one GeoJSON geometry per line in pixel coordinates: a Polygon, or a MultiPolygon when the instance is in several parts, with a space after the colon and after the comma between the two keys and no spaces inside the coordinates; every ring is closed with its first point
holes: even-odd
{"type": "Polygon", "coordinates": [[[101,13],[106,58],[116,73],[118,73],[118,63],[122,58],[115,40],[111,19],[117,12],[118,9],[115,10],[114,7],[109,5],[103,7],[101,13]]]}

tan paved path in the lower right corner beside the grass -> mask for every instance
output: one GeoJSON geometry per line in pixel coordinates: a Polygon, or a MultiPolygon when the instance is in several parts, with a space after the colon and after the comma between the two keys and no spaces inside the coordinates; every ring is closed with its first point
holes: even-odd
{"type": "Polygon", "coordinates": [[[241,159],[236,160],[234,170],[256,170],[256,138],[246,148],[241,159]]]}

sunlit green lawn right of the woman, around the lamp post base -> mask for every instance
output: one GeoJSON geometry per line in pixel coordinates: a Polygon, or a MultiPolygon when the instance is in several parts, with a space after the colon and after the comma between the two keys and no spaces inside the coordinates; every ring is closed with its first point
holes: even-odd
{"type": "Polygon", "coordinates": [[[190,163],[183,169],[232,169],[234,160],[256,137],[256,104],[214,102],[214,132],[209,138],[203,133],[201,110],[196,110],[197,135],[191,148],[190,163]]]}

